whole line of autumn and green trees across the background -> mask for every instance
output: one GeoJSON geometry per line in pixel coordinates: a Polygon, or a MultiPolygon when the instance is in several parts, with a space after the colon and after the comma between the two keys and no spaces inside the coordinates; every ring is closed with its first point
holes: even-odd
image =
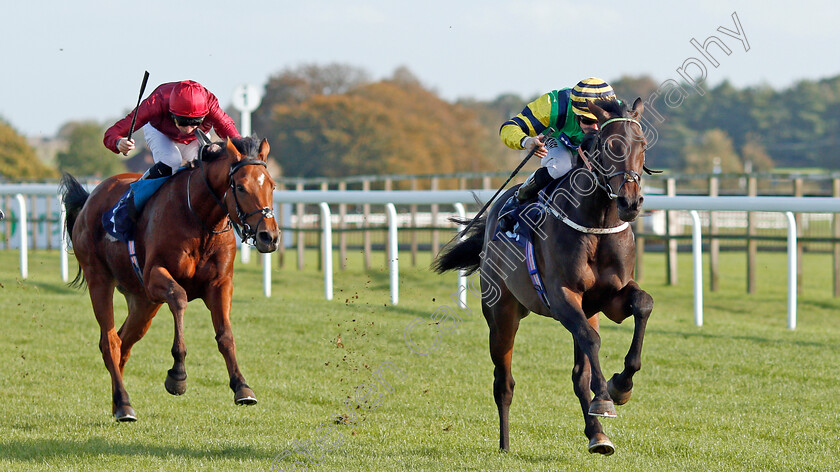
{"type": "MultiPolygon", "coordinates": [[[[653,97],[659,85],[648,76],[624,76],[611,84],[630,102],[653,97]]],[[[499,171],[513,169],[522,158],[501,143],[499,127],[535,98],[502,94],[450,103],[405,67],[372,80],[350,65],[310,64],[271,76],[252,122],[256,134],[268,138],[272,159],[287,177],[499,171]]],[[[722,82],[702,95],[687,94],[673,107],[658,97],[648,102],[662,118],[649,120],[657,139],[647,152],[648,164],[704,173],[837,169],[838,105],[840,76],[803,80],[783,90],[739,89],[722,82]]],[[[239,118],[235,110],[228,112],[239,118]]],[[[67,145],[50,166],[34,158],[25,139],[0,120],[0,178],[54,178],[59,170],[104,177],[124,171],[125,161],[102,146],[111,124],[65,124],[59,134],[67,145]]]]}

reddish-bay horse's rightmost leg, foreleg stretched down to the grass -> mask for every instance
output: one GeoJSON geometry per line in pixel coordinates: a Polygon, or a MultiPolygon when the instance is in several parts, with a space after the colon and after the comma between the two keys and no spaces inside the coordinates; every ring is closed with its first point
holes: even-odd
{"type": "Polygon", "coordinates": [[[210,309],[213,329],[216,331],[216,344],[222,357],[225,358],[225,365],[230,376],[230,389],[233,390],[233,401],[237,405],[254,405],[257,403],[257,396],[245,382],[245,376],[239,371],[239,364],[236,361],[236,342],[230,326],[232,298],[233,284],[227,283],[219,290],[208,293],[204,302],[210,309]]]}

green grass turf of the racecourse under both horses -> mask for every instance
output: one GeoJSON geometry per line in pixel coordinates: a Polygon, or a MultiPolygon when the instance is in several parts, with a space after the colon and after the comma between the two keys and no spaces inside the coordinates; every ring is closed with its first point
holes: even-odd
{"type": "MultiPolygon", "coordinates": [[[[840,300],[831,296],[827,255],[806,254],[799,323],[790,331],[783,253],[759,255],[752,295],[744,255],[724,253],[721,290],[705,293],[702,328],[693,323],[689,255],[680,256],[680,283],[671,287],[662,255],[646,254],[642,287],[656,306],[633,398],[602,421],[616,445],[610,457],[586,451],[571,336],[559,323],[535,315],[522,322],[511,451],[501,454],[476,298],[433,352],[415,354],[405,342],[417,317],[419,344],[446,328],[430,317],[452,305],[455,275],[431,274],[428,256],[417,268],[403,262],[400,303],[391,306],[384,257],[365,271],[352,253],[327,301],[315,255],[307,257],[304,271],[274,270],[271,298],[262,295],[261,269],[237,262],[232,323],[258,405],[234,405],[209,313],[194,301],[186,394],[163,387],[172,321],[162,308],[126,367],[138,421],[118,424],[87,293],[60,281],[56,252],[30,252],[30,277],[20,280],[18,253],[0,251],[0,470],[840,469],[840,300]],[[337,416],[356,423],[336,424],[337,416]],[[307,443],[309,456],[301,452],[307,443]]],[[[119,295],[116,309],[120,323],[119,295]]],[[[631,320],[602,319],[607,375],[621,368],[632,328],[631,320]]]]}

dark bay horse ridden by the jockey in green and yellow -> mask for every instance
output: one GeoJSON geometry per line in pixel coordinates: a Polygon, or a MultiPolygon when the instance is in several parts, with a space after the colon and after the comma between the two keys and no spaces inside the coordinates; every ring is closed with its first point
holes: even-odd
{"type": "Polygon", "coordinates": [[[615,451],[598,417],[616,416],[614,405],[630,399],[633,375],[641,368],[642,340],[653,298],[633,280],[636,244],[627,222],[635,220],[644,200],[640,173],[654,172],[644,165],[646,141],[639,123],[644,108],[637,99],[632,109],[615,100],[590,102],[589,109],[598,118],[599,130],[586,136],[575,168],[552,192],[546,211],[532,227],[534,259],[545,298],[538,295],[526,264],[521,263],[526,260],[525,250],[493,240],[499,209],[516,187],[462,238],[453,239],[432,265],[438,273],[481,271],[481,308],[490,328],[502,451],[510,447],[513,341],[520,320],[530,312],[554,318],[572,334],[572,382],[583,410],[589,452],[610,455],[615,451]],[[599,312],[616,323],[630,316],[635,322],[624,370],[609,382],[598,360],[599,312]]]}

